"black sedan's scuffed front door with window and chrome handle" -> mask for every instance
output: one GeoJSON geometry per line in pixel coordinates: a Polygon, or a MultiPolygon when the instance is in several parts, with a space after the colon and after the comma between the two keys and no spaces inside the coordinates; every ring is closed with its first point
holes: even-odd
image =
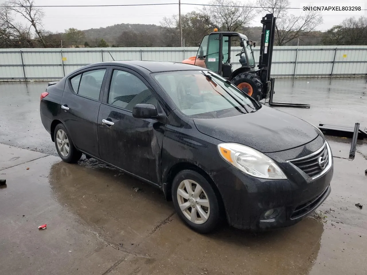
{"type": "Polygon", "coordinates": [[[99,154],[104,161],[159,184],[164,125],[134,118],[132,109],[138,103],[159,104],[155,92],[139,74],[114,69],[107,99],[99,108],[99,154]]]}

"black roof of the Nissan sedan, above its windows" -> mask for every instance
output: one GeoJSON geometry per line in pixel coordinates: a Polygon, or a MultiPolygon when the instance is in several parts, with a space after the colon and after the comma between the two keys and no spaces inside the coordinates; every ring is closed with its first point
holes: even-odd
{"type": "Polygon", "coordinates": [[[95,65],[102,65],[109,63],[108,65],[122,65],[131,67],[142,67],[149,70],[152,73],[156,72],[167,72],[167,71],[180,71],[180,70],[203,70],[202,67],[179,63],[179,62],[168,62],[168,61],[143,61],[143,60],[116,60],[110,62],[96,63],[95,65]]]}

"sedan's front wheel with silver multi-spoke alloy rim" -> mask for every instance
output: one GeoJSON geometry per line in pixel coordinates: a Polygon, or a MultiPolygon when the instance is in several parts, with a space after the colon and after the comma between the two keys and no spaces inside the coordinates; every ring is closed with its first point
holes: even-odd
{"type": "Polygon", "coordinates": [[[213,187],[193,170],[183,170],[175,176],[172,201],[178,216],[199,233],[209,233],[221,223],[219,199],[213,187]],[[202,191],[196,189],[198,186],[202,191]]]}

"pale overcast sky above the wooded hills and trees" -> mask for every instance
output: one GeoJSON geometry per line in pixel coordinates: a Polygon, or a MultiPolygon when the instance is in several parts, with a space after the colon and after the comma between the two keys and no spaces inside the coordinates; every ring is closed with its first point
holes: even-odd
{"type": "MultiPolygon", "coordinates": [[[[1,1],[1,0],[0,0],[1,1]]],[[[309,0],[310,1],[310,0],[309,0]]],[[[312,0],[311,0],[312,1],[312,0]]],[[[207,4],[210,0],[181,0],[182,3],[207,4]]],[[[247,1],[240,1],[245,4],[247,1]]],[[[307,0],[290,0],[291,7],[299,7],[300,3],[308,2],[307,0]]],[[[315,3],[331,3],[340,5],[342,3],[364,3],[367,8],[367,0],[321,0],[315,3]],[[338,3],[339,2],[339,3],[338,3]]],[[[178,0],[35,0],[39,6],[43,5],[108,5],[108,4],[148,4],[148,3],[178,3],[178,0]]],[[[256,5],[256,0],[250,1],[251,6],[256,5]]],[[[189,11],[199,10],[201,6],[181,5],[181,12],[184,14],[189,11]]],[[[169,17],[172,14],[178,14],[178,5],[162,5],[162,6],[140,6],[140,7],[45,7],[45,18],[43,20],[44,27],[52,32],[64,32],[69,27],[77,29],[90,29],[106,27],[120,23],[142,23],[160,25],[163,17],[169,17]]],[[[291,12],[297,12],[290,10],[291,12]]],[[[365,16],[366,16],[366,12],[365,16]]],[[[260,19],[265,12],[259,13],[258,18],[252,22],[252,26],[261,26],[260,19]]],[[[326,30],[340,23],[343,19],[351,15],[335,16],[323,15],[324,23],[320,25],[318,30],[326,30]]],[[[357,15],[356,17],[360,17],[357,15]]]]}

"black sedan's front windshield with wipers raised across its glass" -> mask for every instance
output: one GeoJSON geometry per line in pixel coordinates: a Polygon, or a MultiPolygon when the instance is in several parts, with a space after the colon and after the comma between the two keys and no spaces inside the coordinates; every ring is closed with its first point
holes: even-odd
{"type": "Polygon", "coordinates": [[[185,115],[218,118],[256,111],[261,107],[235,85],[209,71],[153,74],[160,87],[185,115]]]}

